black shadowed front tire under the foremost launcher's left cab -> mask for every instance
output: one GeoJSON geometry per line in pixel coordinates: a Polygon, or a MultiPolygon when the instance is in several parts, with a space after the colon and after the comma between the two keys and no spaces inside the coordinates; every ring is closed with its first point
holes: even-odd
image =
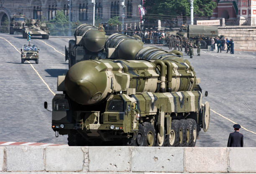
{"type": "Polygon", "coordinates": [[[78,132],[70,132],[68,134],[68,145],[69,146],[87,146],[87,141],[78,132]]]}

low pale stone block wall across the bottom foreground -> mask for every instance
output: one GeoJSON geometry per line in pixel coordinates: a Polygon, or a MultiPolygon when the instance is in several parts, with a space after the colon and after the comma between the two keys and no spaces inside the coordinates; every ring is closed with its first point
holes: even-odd
{"type": "Polygon", "coordinates": [[[0,174],[256,173],[256,148],[0,146],[0,174]]]}

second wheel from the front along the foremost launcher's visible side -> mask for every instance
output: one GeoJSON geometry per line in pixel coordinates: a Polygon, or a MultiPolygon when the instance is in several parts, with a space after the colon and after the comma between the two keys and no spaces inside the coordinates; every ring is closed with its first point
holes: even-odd
{"type": "Polygon", "coordinates": [[[149,122],[144,122],[143,124],[145,136],[146,136],[146,146],[155,146],[156,144],[156,131],[154,126],[149,122]]]}

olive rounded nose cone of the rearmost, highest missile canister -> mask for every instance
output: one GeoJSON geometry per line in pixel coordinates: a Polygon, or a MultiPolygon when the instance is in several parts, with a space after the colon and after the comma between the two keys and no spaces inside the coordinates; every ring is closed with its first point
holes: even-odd
{"type": "Polygon", "coordinates": [[[104,48],[106,39],[104,31],[89,30],[83,38],[84,46],[89,51],[99,52],[104,48]]]}

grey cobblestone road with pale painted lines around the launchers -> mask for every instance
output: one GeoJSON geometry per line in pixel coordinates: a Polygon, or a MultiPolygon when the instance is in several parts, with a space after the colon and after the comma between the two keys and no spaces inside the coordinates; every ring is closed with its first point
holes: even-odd
{"type": "MultiPolygon", "coordinates": [[[[27,43],[21,35],[0,35],[18,50],[27,43]]],[[[43,105],[44,101],[47,101],[51,110],[53,93],[58,93],[57,76],[67,72],[68,65],[63,54],[69,39],[32,39],[31,43],[40,47],[39,64],[34,64],[34,61],[31,61],[31,64],[21,64],[20,53],[2,38],[0,141],[67,144],[67,136],[55,138],[51,130],[51,113],[46,111],[43,105]]],[[[196,51],[194,52],[196,55],[196,51]]],[[[203,91],[209,92],[209,96],[204,97],[203,101],[209,101],[211,109],[217,112],[211,111],[210,127],[206,133],[201,131],[196,146],[226,146],[228,135],[233,131],[231,121],[248,129],[241,129],[241,133],[244,134],[244,146],[256,146],[256,53],[236,51],[231,55],[202,50],[201,56],[190,59],[184,55],[184,58],[189,59],[197,77],[201,78],[200,86],[203,91]]]]}

